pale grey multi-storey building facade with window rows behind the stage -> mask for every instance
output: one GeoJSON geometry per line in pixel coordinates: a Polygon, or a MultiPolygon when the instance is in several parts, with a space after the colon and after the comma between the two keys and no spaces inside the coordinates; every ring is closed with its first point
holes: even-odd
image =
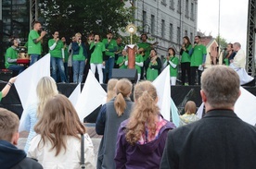
{"type": "Polygon", "coordinates": [[[182,38],[194,42],[198,24],[198,0],[135,0],[135,25],[147,33],[150,42],[165,56],[169,47],[180,51],[182,38]]]}

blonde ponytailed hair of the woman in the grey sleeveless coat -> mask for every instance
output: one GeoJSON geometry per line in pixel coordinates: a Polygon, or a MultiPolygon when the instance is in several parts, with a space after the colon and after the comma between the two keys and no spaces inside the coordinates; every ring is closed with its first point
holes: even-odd
{"type": "Polygon", "coordinates": [[[130,99],[129,96],[132,92],[133,84],[127,78],[120,79],[116,84],[116,99],[114,102],[115,110],[118,116],[121,116],[126,109],[124,98],[130,99]]]}

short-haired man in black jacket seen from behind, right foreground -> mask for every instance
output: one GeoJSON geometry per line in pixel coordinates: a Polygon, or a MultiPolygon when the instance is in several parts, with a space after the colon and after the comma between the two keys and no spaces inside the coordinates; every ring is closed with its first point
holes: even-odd
{"type": "Polygon", "coordinates": [[[206,115],[168,134],[160,168],[245,169],[256,167],[256,128],[234,113],[240,95],[237,72],[212,66],[201,78],[206,115]]]}

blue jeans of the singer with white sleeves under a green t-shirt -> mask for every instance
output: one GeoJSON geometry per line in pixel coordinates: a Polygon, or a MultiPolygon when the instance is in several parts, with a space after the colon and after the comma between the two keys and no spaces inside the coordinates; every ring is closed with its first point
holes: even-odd
{"type": "Polygon", "coordinates": [[[58,66],[58,72],[60,75],[61,82],[66,82],[66,75],[65,75],[65,68],[63,65],[63,59],[59,57],[51,57],[51,66],[52,66],[52,77],[57,80],[57,66],[58,66]]]}

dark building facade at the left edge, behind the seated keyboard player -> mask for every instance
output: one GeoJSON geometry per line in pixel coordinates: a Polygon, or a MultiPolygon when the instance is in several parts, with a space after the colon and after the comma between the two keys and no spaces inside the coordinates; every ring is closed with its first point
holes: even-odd
{"type": "MultiPolygon", "coordinates": [[[[0,1],[0,68],[5,68],[5,53],[12,37],[26,42],[30,30],[30,2],[28,0],[0,1]]],[[[23,43],[24,44],[24,43],[23,43]]]]}

